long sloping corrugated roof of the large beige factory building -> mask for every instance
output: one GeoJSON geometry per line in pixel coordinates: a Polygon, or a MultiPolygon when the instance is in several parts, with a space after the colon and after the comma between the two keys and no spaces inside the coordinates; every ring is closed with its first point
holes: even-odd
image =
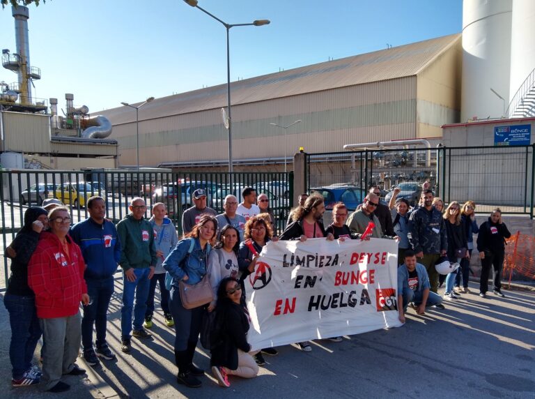
{"type": "MultiPolygon", "coordinates": [[[[460,33],[456,33],[232,82],[232,105],[417,75],[459,39],[460,33]]],[[[226,84],[219,84],[157,98],[144,105],[142,119],[225,106],[226,84]]],[[[127,107],[113,108],[98,114],[107,116],[114,125],[135,121],[135,113],[127,107]]]]}

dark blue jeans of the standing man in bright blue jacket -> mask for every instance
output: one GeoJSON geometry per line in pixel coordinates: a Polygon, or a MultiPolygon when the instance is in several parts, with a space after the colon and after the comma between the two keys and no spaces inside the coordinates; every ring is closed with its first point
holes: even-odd
{"type": "Polygon", "coordinates": [[[93,348],[93,324],[97,332],[97,347],[106,344],[106,324],[109,301],[114,293],[114,277],[100,280],[86,279],[87,294],[93,303],[84,306],[82,319],[82,346],[84,350],[93,348]]]}

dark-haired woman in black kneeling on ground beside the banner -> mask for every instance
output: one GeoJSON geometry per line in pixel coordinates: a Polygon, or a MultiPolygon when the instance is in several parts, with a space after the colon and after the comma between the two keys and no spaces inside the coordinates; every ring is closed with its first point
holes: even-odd
{"type": "Polygon", "coordinates": [[[231,386],[227,375],[253,378],[258,365],[248,353],[249,312],[242,301],[242,286],[232,277],[221,280],[217,289],[214,329],[210,335],[210,365],[220,386],[231,386]]]}

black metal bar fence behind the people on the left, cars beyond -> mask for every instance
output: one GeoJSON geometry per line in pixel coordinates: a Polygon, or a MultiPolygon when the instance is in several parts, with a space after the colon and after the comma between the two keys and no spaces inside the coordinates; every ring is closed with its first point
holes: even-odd
{"type": "MultiPolygon", "coordinates": [[[[88,218],[86,201],[93,195],[106,199],[107,218],[117,223],[128,213],[134,197],[141,197],[150,206],[163,202],[168,217],[182,232],[181,220],[185,209],[193,206],[192,196],[197,188],[207,192],[207,205],[222,213],[224,197],[233,194],[241,201],[242,189],[251,186],[270,199],[277,230],[286,227],[286,218],[293,206],[293,173],[275,172],[146,172],[101,170],[80,171],[6,171],[0,170],[0,233],[1,250],[10,244],[23,225],[28,206],[40,205],[47,198],[60,199],[68,206],[72,223],[88,218]]],[[[0,289],[6,287],[8,259],[2,256],[3,276],[0,289]]]]}

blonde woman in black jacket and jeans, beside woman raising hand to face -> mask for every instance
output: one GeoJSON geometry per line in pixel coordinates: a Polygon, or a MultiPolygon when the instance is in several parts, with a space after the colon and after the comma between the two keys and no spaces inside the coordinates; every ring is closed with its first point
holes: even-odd
{"type": "MultiPolygon", "coordinates": [[[[460,259],[467,256],[467,240],[465,233],[465,224],[460,218],[460,204],[457,201],[451,201],[444,211],[444,225],[446,226],[446,233],[448,237],[447,257],[449,262],[460,262],[460,259]]],[[[458,270],[453,271],[447,275],[446,291],[444,292],[444,299],[451,301],[458,298],[458,294],[453,292],[453,284],[457,276],[458,270]]]]}

